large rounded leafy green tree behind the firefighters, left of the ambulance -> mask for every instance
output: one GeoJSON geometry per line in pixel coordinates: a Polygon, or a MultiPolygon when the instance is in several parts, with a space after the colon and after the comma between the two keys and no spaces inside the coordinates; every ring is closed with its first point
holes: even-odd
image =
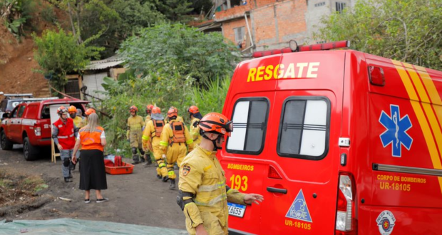
{"type": "MultiPolygon", "coordinates": [[[[161,80],[179,76],[203,85],[218,75],[232,73],[239,61],[235,46],[220,33],[202,33],[183,24],[144,28],[120,48],[120,55],[137,75],[161,80]]],[[[155,82],[153,80],[153,82],[155,82]]]]}

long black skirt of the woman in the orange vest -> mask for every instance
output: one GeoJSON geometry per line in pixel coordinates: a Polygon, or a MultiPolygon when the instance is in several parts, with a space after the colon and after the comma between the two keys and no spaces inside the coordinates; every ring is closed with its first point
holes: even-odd
{"type": "Polygon", "coordinates": [[[80,189],[108,189],[103,151],[81,150],[80,153],[80,189]]]}

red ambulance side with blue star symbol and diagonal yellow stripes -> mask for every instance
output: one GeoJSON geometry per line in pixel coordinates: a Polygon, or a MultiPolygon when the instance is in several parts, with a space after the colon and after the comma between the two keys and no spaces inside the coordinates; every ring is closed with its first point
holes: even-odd
{"type": "Polygon", "coordinates": [[[366,56],[382,68],[370,85],[373,198],[364,234],[442,234],[442,73],[366,56]]]}

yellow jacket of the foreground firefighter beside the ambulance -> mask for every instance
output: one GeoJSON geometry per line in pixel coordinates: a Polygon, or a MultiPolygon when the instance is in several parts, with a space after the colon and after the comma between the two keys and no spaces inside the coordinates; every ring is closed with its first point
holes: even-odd
{"type": "Polygon", "coordinates": [[[208,151],[198,145],[184,158],[180,167],[178,187],[183,192],[195,195],[193,198],[183,197],[184,200],[193,201],[184,207],[189,234],[195,234],[195,227],[199,224],[205,226],[208,234],[228,234],[227,201],[245,204],[245,194],[237,189],[228,189],[226,192],[225,172],[215,155],[216,151],[208,151]]]}

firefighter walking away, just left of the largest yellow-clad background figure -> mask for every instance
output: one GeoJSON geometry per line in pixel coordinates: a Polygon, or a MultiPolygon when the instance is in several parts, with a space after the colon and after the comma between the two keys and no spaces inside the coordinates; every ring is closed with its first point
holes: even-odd
{"type": "Polygon", "coordinates": [[[153,152],[153,157],[158,164],[157,177],[163,178],[163,182],[168,180],[168,169],[163,160],[163,154],[160,150],[160,136],[163,132],[164,117],[158,107],[152,108],[152,119],[148,121],[143,131],[143,149],[153,152]]]}

